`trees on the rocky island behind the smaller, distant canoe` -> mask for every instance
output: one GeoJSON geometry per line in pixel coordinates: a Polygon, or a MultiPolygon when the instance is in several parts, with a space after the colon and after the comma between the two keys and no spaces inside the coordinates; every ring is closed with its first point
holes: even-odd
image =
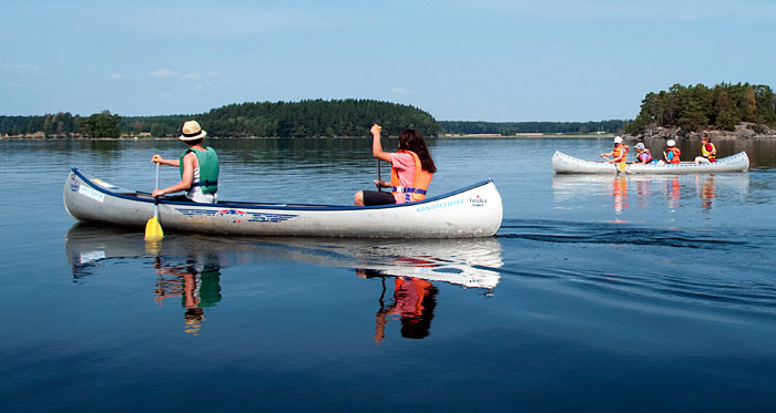
{"type": "Polygon", "coordinates": [[[717,127],[733,131],[742,122],[776,126],[776,96],[769,86],[748,83],[674,84],[668,91],[647,93],[636,118],[624,132],[639,133],[651,126],[685,131],[717,127]]]}

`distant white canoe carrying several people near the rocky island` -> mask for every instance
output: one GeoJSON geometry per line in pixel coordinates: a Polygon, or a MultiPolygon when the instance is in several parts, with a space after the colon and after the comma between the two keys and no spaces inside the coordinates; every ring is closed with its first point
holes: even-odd
{"type": "Polygon", "coordinates": [[[734,173],[746,172],[749,168],[749,157],[746,152],[739,152],[733,156],[717,159],[709,164],[695,164],[683,162],[678,165],[640,165],[625,164],[622,171],[621,164],[607,164],[603,162],[591,162],[569,156],[561,152],[552,155],[552,168],[559,174],[610,174],[620,172],[625,174],[694,174],[694,173],[734,173]]]}

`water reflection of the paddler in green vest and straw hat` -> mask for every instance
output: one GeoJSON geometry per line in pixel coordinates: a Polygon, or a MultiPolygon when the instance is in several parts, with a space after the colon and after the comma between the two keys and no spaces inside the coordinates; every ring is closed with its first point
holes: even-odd
{"type": "Polygon", "coordinates": [[[157,257],[154,262],[160,277],[154,295],[161,301],[169,297],[181,297],[185,319],[184,331],[198,335],[205,320],[204,309],[221,301],[221,266],[215,255],[188,257],[183,266],[163,267],[157,257]]]}

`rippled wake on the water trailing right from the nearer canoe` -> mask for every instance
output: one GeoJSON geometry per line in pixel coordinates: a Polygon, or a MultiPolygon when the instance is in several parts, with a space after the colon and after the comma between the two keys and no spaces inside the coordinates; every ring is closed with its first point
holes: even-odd
{"type": "Polygon", "coordinates": [[[772,230],[508,220],[499,239],[504,250],[524,241],[523,249],[542,251],[520,270],[510,270],[515,266],[507,257],[501,271],[512,277],[558,280],[623,306],[688,302],[776,312],[776,279],[764,259],[776,244],[772,230]]]}

